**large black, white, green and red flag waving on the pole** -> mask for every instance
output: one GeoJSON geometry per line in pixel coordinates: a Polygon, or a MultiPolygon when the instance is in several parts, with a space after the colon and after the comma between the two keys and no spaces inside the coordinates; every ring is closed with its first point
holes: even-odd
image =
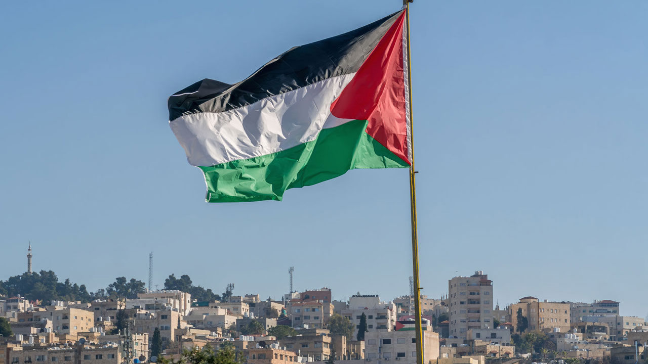
{"type": "Polygon", "coordinates": [[[237,84],[172,95],[169,124],[207,201],[281,201],[354,168],[408,168],[405,16],[294,47],[237,84]]]}

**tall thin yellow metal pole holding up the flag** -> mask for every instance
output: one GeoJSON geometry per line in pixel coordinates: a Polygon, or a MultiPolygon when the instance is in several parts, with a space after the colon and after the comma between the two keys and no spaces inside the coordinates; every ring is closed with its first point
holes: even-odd
{"type": "Polygon", "coordinates": [[[407,27],[407,73],[408,73],[408,91],[410,96],[410,146],[411,146],[411,166],[410,166],[410,207],[411,207],[411,260],[413,267],[413,280],[414,280],[414,311],[416,320],[416,363],[425,364],[423,362],[423,330],[422,330],[422,317],[421,317],[421,286],[419,281],[419,238],[417,234],[416,225],[416,177],[417,174],[414,168],[414,129],[412,127],[412,103],[411,103],[411,55],[410,55],[410,3],[413,0],[403,0],[406,14],[406,27],[407,27]]]}

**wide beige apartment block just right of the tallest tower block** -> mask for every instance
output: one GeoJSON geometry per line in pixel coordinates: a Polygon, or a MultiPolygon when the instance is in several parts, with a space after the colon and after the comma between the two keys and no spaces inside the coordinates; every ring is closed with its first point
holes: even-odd
{"type": "Polygon", "coordinates": [[[527,331],[559,328],[561,332],[568,332],[571,328],[568,303],[547,302],[547,300],[540,302],[535,297],[522,297],[520,302],[509,306],[509,316],[514,330],[517,330],[518,310],[522,310],[522,316],[529,322],[527,331]]]}

